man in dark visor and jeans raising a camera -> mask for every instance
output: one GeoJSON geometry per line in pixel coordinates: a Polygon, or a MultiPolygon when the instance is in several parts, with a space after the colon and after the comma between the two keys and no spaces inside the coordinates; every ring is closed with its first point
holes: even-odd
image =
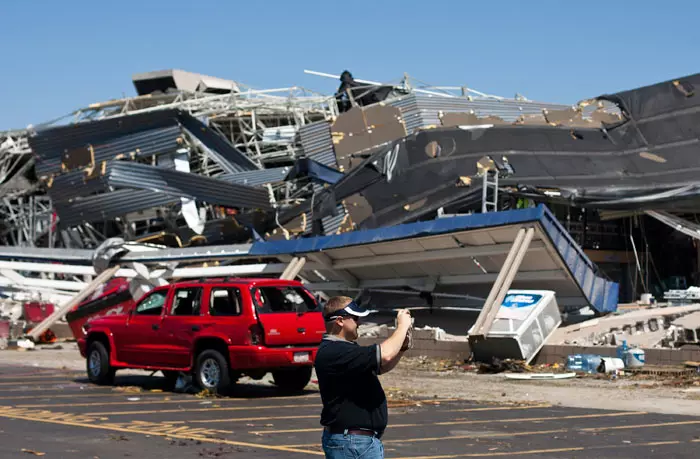
{"type": "Polygon", "coordinates": [[[400,310],[393,335],[380,345],[360,346],[357,326],[369,311],[351,298],[337,296],[323,308],[328,332],[314,366],[321,391],[323,451],[327,458],[384,457],[382,434],[387,403],[377,377],[391,371],[408,348],[411,314],[400,310]]]}

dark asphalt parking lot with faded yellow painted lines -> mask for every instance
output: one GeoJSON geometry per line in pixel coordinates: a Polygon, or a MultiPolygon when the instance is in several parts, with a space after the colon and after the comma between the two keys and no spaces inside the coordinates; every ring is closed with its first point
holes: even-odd
{"type": "MultiPolygon", "coordinates": [[[[239,385],[226,397],[162,389],[163,379],[0,369],[0,457],[313,457],[320,397],[239,385]]],[[[572,396],[575,396],[572,393],[572,396]]],[[[386,457],[698,457],[700,416],[502,406],[468,400],[392,401],[386,457]]]]}

